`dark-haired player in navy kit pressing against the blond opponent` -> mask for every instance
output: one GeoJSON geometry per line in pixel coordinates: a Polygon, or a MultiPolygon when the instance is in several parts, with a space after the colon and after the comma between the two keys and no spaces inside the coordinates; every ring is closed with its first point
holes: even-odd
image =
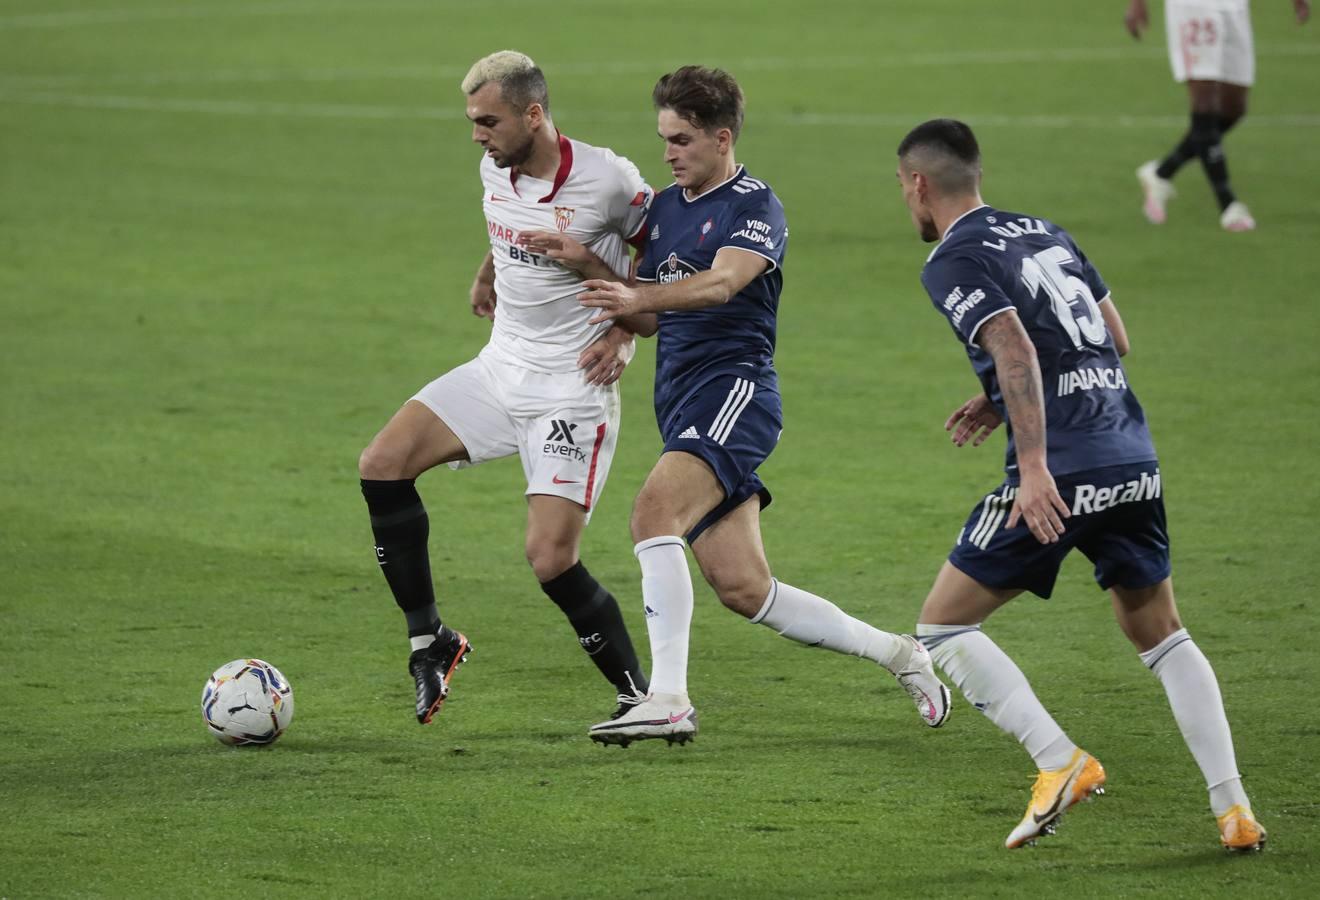
{"type": "Polygon", "coordinates": [[[692,575],[684,537],[725,606],[812,647],[869,659],[908,691],[925,724],[949,691],[911,636],[891,635],[771,577],[760,541],[770,492],[756,467],[783,429],[775,315],[788,226],[775,193],[734,160],[743,96],[727,73],[684,66],[652,100],[675,183],[647,219],[642,285],[586,281],[579,300],[607,321],[659,314],[655,406],[661,454],[632,511],[651,637],[651,693],[593,726],[601,743],[689,739],[692,575]]]}

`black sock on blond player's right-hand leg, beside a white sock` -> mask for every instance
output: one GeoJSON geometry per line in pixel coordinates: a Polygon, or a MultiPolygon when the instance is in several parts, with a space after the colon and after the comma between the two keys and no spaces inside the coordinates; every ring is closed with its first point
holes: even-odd
{"type": "Polygon", "coordinates": [[[582,649],[618,693],[647,693],[647,677],[632,649],[619,603],[601,587],[586,566],[573,563],[566,571],[541,582],[541,590],[569,618],[582,649]]]}

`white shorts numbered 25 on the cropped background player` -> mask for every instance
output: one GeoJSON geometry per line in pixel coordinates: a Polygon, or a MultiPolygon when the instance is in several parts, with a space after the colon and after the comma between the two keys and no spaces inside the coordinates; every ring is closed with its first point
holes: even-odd
{"type": "Polygon", "coordinates": [[[1166,0],[1168,61],[1173,80],[1255,82],[1251,13],[1246,4],[1225,9],[1213,3],[1166,0]]]}

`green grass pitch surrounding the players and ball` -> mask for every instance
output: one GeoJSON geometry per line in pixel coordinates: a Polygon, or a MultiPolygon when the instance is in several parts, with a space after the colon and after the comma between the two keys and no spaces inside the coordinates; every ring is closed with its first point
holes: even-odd
{"type": "MultiPolygon", "coordinates": [[[[1133,170],[1185,102],[1162,26],[1133,42],[1119,0],[0,1],[0,896],[1313,896],[1320,24],[1254,5],[1258,86],[1226,146],[1261,227],[1226,235],[1196,166],[1166,227],[1140,218],[1133,170]],[[513,461],[421,480],[441,610],[477,652],[416,724],[355,462],[486,339],[458,80],[507,46],[544,66],[565,133],[657,186],[655,79],[742,80],[738,157],[792,227],[767,549],[888,629],[1002,463],[1002,437],[941,430],[975,383],[892,174],[912,124],[978,128],[987,199],[1068,227],[1126,318],[1181,611],[1266,852],[1218,849],[1081,558],[989,629],[1110,772],[1035,850],[1001,846],[1034,775],[1010,738],[965,703],[927,731],[882,672],[704,585],[697,742],[593,746],[612,697],[523,560],[513,461]],[[294,685],[269,750],[198,715],[243,655],[294,685]]],[[[657,449],[651,362],[583,548],[643,651],[627,515],[657,449]]]]}

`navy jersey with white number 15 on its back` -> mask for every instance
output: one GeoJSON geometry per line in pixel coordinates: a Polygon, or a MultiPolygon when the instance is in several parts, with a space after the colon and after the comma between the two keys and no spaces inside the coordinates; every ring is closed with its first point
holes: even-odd
{"type": "MultiPolygon", "coordinates": [[[[981,206],[949,227],[925,261],[921,284],[1001,413],[994,359],[975,343],[977,329],[1005,310],[1018,311],[1040,360],[1051,472],[1155,459],[1146,413],[1100,311],[1109,289],[1067,231],[981,206]]],[[[1010,428],[1005,468],[1014,484],[1016,463],[1010,428]]]]}

